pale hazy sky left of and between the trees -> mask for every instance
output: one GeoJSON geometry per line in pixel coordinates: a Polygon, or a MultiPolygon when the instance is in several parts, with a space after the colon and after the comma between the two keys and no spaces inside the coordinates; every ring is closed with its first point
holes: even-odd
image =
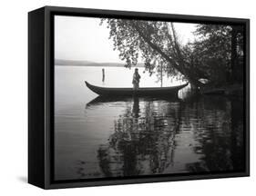
{"type": "MultiPolygon", "coordinates": [[[[55,58],[86,60],[96,63],[121,63],[113,51],[109,29],[99,25],[100,19],[79,16],[55,16],[55,58]]],[[[193,41],[194,24],[178,24],[175,28],[183,43],[193,41]]]]}

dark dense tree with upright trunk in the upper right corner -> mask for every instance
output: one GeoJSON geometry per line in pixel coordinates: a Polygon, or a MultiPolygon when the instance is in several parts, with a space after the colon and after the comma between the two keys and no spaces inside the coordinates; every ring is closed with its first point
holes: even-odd
{"type": "MultiPolygon", "coordinates": [[[[212,83],[234,82],[243,56],[243,33],[239,25],[198,25],[193,43],[201,68],[212,83]]],[[[241,75],[241,73],[240,73],[241,75]]]]}

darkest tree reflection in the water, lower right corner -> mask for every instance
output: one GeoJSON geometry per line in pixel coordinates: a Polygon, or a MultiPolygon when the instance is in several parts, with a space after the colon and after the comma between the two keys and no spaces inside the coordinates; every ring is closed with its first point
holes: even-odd
{"type": "MultiPolygon", "coordinates": [[[[218,96],[201,99],[187,105],[189,111],[195,109],[197,119],[200,120],[200,123],[192,123],[196,125],[194,138],[200,143],[193,150],[202,154],[199,162],[187,164],[187,170],[243,171],[245,165],[241,100],[218,96]]],[[[188,118],[185,122],[192,120],[188,118]]]]}

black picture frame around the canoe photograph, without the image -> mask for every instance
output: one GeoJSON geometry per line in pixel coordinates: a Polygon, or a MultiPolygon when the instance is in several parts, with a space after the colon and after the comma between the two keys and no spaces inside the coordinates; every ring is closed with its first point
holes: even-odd
{"type": "Polygon", "coordinates": [[[45,6],[28,14],[28,182],[43,189],[187,181],[250,175],[250,20],[196,15],[169,15],[45,6]],[[165,174],[97,180],[54,181],[54,15],[117,17],[182,23],[244,25],[244,142],[245,171],[165,174]]]}

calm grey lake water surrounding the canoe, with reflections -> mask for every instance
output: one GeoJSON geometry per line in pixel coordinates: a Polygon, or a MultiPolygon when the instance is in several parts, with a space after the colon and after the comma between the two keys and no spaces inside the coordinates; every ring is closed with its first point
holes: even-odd
{"type": "MultiPolygon", "coordinates": [[[[134,69],[55,68],[55,180],[242,171],[242,101],[192,96],[101,99],[84,81],[131,87],[134,69]]],[[[140,86],[160,86],[139,68],[140,86]]],[[[164,79],[164,85],[184,83],[164,79]],[[170,84],[171,83],[171,84],[170,84]]]]}

